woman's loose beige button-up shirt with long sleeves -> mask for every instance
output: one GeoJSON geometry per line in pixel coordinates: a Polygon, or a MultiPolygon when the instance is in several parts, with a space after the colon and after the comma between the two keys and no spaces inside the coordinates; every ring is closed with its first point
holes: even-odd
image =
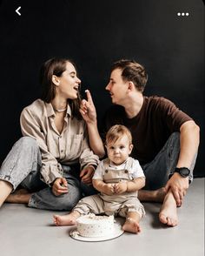
{"type": "Polygon", "coordinates": [[[36,138],[40,147],[41,174],[47,184],[63,176],[61,164],[80,163],[83,169],[88,165],[96,166],[99,162],[99,158],[89,149],[85,122],[71,118],[69,104],[61,134],[56,129],[55,117],[52,104],[37,99],[23,109],[20,118],[23,136],[36,138]]]}

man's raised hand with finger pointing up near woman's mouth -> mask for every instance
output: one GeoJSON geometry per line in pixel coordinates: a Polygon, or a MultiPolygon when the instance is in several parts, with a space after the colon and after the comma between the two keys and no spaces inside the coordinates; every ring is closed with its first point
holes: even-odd
{"type": "Polygon", "coordinates": [[[96,107],[93,103],[89,90],[86,90],[87,100],[83,99],[80,106],[80,112],[87,124],[96,123],[96,107]]]}

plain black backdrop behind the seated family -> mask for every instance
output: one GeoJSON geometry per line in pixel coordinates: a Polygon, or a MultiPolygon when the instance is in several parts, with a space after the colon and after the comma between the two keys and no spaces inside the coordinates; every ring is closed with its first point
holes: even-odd
{"type": "MultiPolygon", "coordinates": [[[[19,115],[39,97],[38,71],[71,57],[92,91],[99,122],[111,104],[109,67],[134,58],[149,73],[146,95],[172,100],[201,127],[195,177],[204,176],[204,5],[202,0],[58,0],[0,3],[0,161],[21,136],[19,115]],[[21,16],[15,10],[21,6],[21,16]],[[188,12],[188,16],[177,16],[188,12]]],[[[84,95],[84,93],[82,93],[84,95]]]]}

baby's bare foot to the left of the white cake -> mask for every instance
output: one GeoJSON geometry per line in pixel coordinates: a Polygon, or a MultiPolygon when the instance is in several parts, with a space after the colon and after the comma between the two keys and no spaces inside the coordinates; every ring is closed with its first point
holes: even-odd
{"type": "Polygon", "coordinates": [[[53,221],[56,226],[73,226],[76,225],[76,219],[80,217],[79,212],[71,212],[67,215],[54,215],[53,221]]]}

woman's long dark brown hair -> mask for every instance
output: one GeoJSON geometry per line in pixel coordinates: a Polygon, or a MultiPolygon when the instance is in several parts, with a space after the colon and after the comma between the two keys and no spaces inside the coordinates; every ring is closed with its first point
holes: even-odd
{"type": "MultiPolygon", "coordinates": [[[[41,99],[50,103],[56,97],[56,85],[52,82],[52,76],[61,77],[63,72],[66,71],[66,63],[73,64],[68,58],[50,58],[41,67],[40,70],[40,83],[43,86],[41,99]]],[[[73,64],[75,66],[75,64],[73,64]]],[[[75,66],[76,68],[76,66],[75,66]]],[[[81,96],[77,92],[76,99],[68,99],[70,109],[72,111],[72,118],[82,119],[79,111],[81,104],[81,96]]]]}

